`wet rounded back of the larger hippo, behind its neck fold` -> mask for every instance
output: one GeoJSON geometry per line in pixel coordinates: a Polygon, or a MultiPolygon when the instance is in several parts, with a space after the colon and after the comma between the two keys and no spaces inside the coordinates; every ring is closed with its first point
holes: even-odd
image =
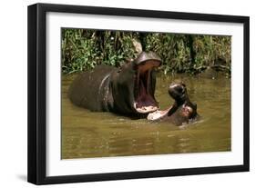
{"type": "Polygon", "coordinates": [[[108,111],[108,101],[111,101],[111,95],[108,94],[109,75],[117,70],[116,67],[103,64],[77,76],[69,88],[72,103],[91,111],[108,111]]]}

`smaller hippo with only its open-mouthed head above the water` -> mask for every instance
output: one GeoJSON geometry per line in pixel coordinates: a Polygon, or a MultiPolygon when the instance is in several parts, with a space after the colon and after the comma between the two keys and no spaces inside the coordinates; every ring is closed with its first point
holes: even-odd
{"type": "Polygon", "coordinates": [[[186,85],[182,82],[169,85],[169,95],[175,100],[167,110],[148,114],[150,121],[168,121],[172,124],[188,124],[199,117],[197,104],[189,101],[186,85]]]}

